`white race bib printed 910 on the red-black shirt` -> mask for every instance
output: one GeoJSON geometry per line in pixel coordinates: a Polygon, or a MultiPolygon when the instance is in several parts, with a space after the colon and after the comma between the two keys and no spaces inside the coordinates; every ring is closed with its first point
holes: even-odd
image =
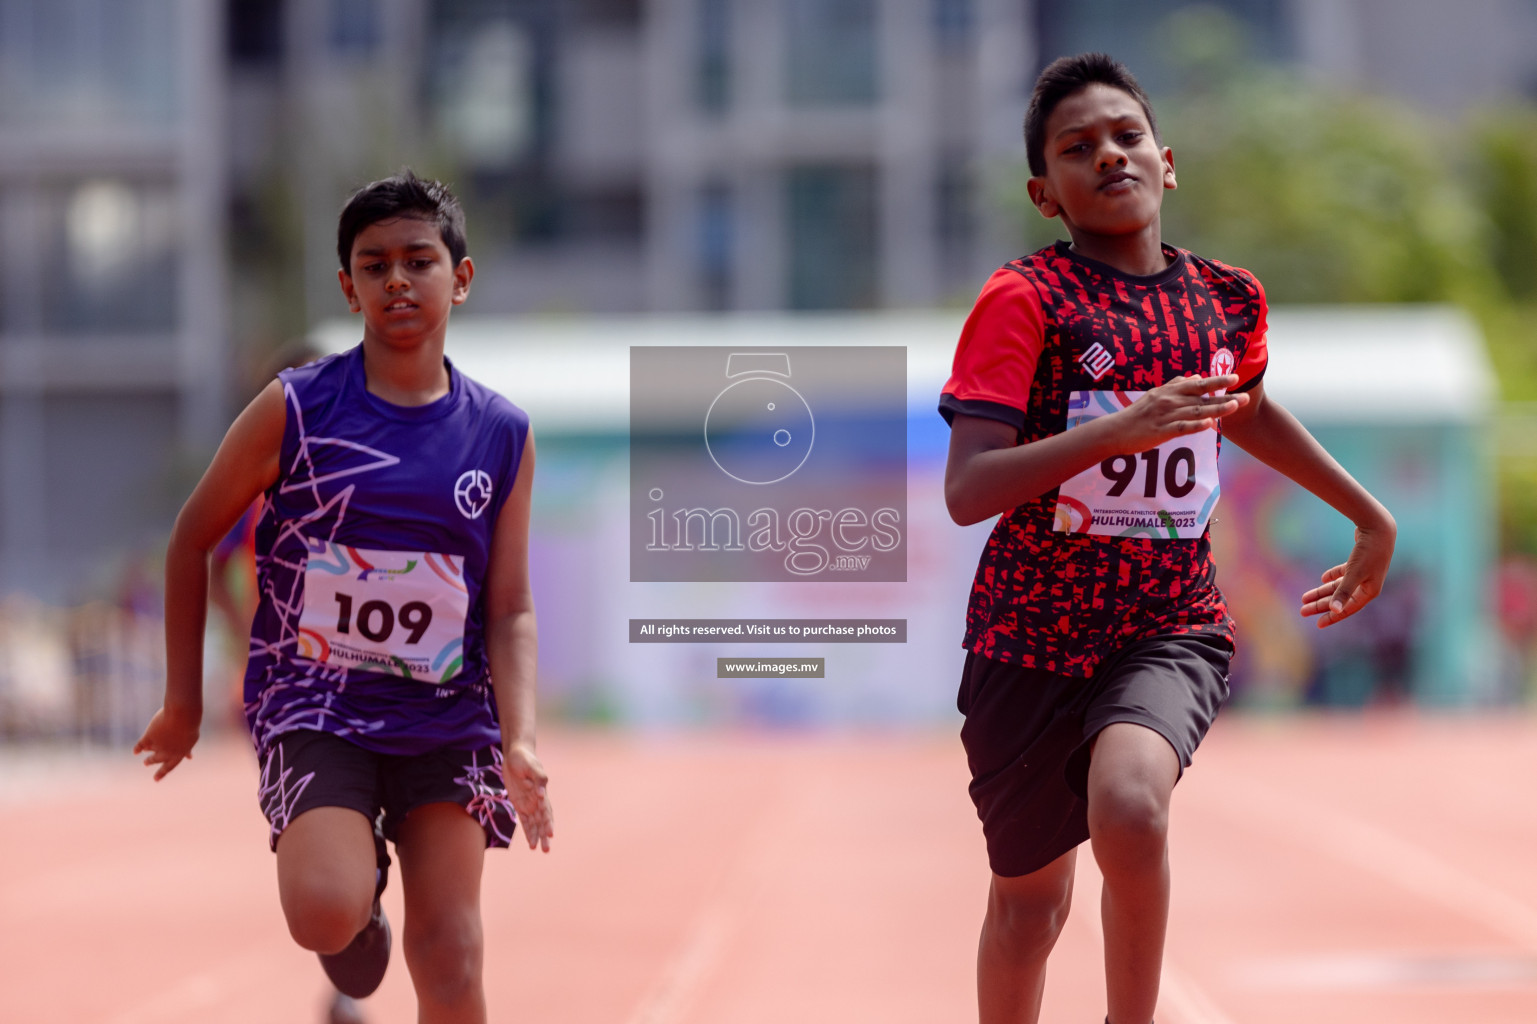
{"type": "MultiPolygon", "coordinates": [[[[1067,429],[1142,397],[1140,391],[1074,391],[1067,429]]],[[[1222,487],[1217,483],[1217,432],[1170,438],[1145,452],[1111,455],[1062,483],[1056,523],[1061,534],[1194,540],[1207,530],[1222,487]]]]}

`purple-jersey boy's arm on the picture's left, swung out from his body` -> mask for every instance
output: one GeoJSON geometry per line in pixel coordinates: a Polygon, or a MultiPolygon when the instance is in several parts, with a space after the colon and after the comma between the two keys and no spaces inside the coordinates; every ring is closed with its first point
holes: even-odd
{"type": "Polygon", "coordinates": [[[166,700],[134,744],[158,766],[155,781],[192,756],[203,721],[203,627],[207,617],[207,555],[240,514],[278,478],[286,409],[272,381],[235,418],[192,497],[181,506],[166,546],[166,700]]]}

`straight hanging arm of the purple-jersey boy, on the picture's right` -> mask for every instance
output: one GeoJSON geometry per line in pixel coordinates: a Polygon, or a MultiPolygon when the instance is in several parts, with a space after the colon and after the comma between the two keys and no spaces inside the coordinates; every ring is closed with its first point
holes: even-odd
{"type": "Polygon", "coordinates": [[[501,718],[503,778],[529,849],[550,850],[555,815],[549,773],[533,752],[538,630],[529,586],[529,509],[533,497],[533,434],[527,435],[518,478],[496,515],[486,574],[486,657],[501,718]]]}

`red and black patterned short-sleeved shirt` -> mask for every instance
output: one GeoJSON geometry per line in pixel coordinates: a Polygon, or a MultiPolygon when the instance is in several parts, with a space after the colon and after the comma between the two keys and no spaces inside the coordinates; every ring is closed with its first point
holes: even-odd
{"type": "MultiPolygon", "coordinates": [[[[1248,271],[1164,251],[1168,268],[1150,277],[1064,241],[1004,264],[961,332],[939,400],[945,421],[958,412],[999,420],[1028,444],[1067,429],[1073,392],[1124,395],[1219,372],[1239,375],[1234,392],[1253,387],[1266,361],[1265,291],[1248,271]]],[[[999,517],[971,586],[968,650],[1090,677],[1145,637],[1202,632],[1231,643],[1205,532],[1090,535],[1054,529],[1057,515],[1053,487],[999,517]]]]}

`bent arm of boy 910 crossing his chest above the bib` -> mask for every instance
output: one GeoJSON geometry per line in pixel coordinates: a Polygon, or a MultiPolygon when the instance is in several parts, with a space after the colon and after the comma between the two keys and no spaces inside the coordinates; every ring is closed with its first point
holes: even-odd
{"type": "Polygon", "coordinates": [[[981,523],[1037,498],[1113,455],[1137,454],[1183,434],[1211,429],[1242,409],[1248,394],[1211,395],[1233,387],[1236,375],[1176,377],[1108,417],[1016,443],[999,420],[956,414],[945,463],[945,507],[961,526],[981,523]]]}

